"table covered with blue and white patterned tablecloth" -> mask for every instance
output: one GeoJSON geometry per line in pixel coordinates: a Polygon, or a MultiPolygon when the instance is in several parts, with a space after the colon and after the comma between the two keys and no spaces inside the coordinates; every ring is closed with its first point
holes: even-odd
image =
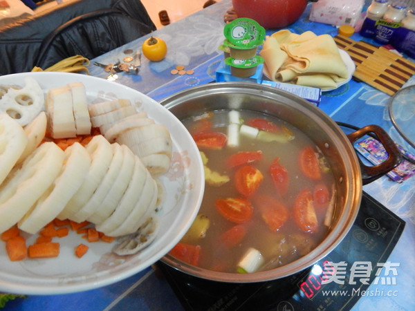
{"type": "MultiPolygon", "coordinates": [[[[223,14],[231,6],[230,0],[223,0],[181,21],[172,23],[153,35],[167,42],[169,48],[163,62],[150,63],[141,57],[139,75],[118,74],[114,83],[124,84],[160,101],[185,88],[214,81],[215,70],[223,54],[218,49],[223,41],[223,14]],[[172,75],[170,70],[177,65],[194,70],[194,75],[172,75]]],[[[309,6],[293,25],[292,32],[312,30],[317,35],[336,35],[337,28],[308,21],[309,6]]],[[[93,62],[114,64],[122,62],[124,51],[140,50],[142,42],[150,35],[136,39],[120,48],[91,60],[91,75],[107,78],[109,73],[94,66],[93,62]]],[[[352,39],[362,39],[358,34],[352,39]]],[[[415,77],[407,85],[415,84],[415,77]]],[[[389,120],[387,103],[389,96],[371,86],[351,80],[335,91],[322,96],[320,109],[333,120],[356,126],[378,124],[412,153],[415,152],[389,120]]],[[[415,177],[402,184],[382,177],[364,191],[376,198],[382,205],[403,218],[406,222],[403,235],[398,241],[389,261],[399,263],[396,285],[370,285],[369,290],[394,290],[397,296],[362,296],[353,310],[414,310],[415,308],[415,177]]],[[[183,310],[167,281],[156,276],[151,267],[114,283],[86,292],[50,296],[28,296],[27,299],[10,301],[7,310],[183,310]]]]}

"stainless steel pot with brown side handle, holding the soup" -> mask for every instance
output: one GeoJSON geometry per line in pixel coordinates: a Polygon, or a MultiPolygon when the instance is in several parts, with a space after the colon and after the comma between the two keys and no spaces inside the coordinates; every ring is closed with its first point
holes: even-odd
{"type": "Polygon", "coordinates": [[[362,185],[385,175],[401,160],[394,142],[380,127],[366,126],[344,135],[340,127],[316,106],[301,97],[270,86],[241,82],[205,84],[176,93],[160,104],[180,120],[206,111],[230,109],[259,111],[279,117],[301,129],[320,147],[335,176],[337,202],[329,234],[312,252],[293,263],[264,272],[233,274],[201,269],[178,261],[168,254],[162,258],[167,265],[203,279],[231,283],[268,281],[295,274],[313,265],[329,254],[349,232],[360,207],[362,185]],[[375,167],[363,165],[352,145],[355,140],[370,132],[376,133],[389,153],[388,160],[375,167]]]}

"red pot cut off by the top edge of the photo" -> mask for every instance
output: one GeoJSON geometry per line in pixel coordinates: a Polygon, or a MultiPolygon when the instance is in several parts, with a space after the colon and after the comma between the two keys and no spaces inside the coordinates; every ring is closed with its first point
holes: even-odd
{"type": "Polygon", "coordinates": [[[232,0],[238,17],[254,19],[264,28],[282,28],[299,19],[307,0],[232,0]]]}

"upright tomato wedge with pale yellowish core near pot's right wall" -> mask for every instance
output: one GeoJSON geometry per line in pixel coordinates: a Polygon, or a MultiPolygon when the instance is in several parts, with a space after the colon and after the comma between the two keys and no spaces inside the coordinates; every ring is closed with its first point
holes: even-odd
{"type": "Polygon", "coordinates": [[[317,215],[315,214],[313,193],[310,189],[302,190],[295,198],[293,216],[299,229],[307,233],[317,232],[317,215]]]}

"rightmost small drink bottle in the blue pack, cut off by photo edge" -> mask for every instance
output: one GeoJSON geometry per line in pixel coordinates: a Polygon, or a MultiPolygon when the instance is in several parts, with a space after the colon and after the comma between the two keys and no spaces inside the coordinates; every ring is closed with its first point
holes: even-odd
{"type": "Polygon", "coordinates": [[[399,52],[407,53],[409,57],[415,57],[415,8],[407,12],[407,17],[402,20],[391,39],[391,45],[399,52]]]}

